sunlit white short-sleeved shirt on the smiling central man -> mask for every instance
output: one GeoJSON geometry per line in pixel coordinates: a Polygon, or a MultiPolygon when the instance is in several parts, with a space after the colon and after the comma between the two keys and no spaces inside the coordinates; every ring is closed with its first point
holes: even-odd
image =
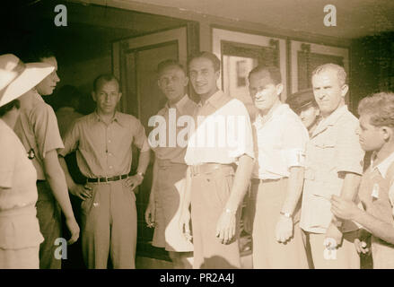
{"type": "Polygon", "coordinates": [[[254,159],[250,116],[241,100],[216,91],[197,105],[194,121],[185,155],[188,165],[231,164],[243,154],[254,159]]]}

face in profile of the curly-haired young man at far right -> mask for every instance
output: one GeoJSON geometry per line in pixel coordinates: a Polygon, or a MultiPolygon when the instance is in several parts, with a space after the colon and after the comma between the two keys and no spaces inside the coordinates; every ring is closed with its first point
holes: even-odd
{"type": "Polygon", "coordinates": [[[370,115],[362,115],[359,118],[360,127],[357,130],[358,140],[365,152],[380,150],[385,143],[382,127],[371,125],[370,119],[370,115]]]}

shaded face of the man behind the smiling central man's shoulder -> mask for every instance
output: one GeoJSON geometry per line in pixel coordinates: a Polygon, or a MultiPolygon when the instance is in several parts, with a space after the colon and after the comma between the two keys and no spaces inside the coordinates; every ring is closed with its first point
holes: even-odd
{"type": "Polygon", "coordinates": [[[188,77],[178,66],[172,65],[165,68],[159,75],[158,84],[167,100],[171,102],[185,95],[188,77]]]}

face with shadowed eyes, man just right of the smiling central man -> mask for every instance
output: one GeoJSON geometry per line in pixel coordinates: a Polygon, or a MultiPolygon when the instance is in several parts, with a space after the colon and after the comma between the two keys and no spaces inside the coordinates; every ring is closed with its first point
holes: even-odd
{"type": "Polygon", "coordinates": [[[255,106],[267,113],[279,101],[283,85],[275,84],[266,73],[254,73],[250,74],[249,91],[255,106]]]}

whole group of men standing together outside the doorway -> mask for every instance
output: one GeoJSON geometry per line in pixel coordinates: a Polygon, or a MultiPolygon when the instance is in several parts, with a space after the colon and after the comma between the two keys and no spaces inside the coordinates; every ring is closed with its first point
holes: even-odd
{"type": "Polygon", "coordinates": [[[158,65],[165,136],[153,145],[140,120],[117,111],[122,93],[114,75],[94,80],[94,112],[64,109],[57,126],[41,98],[59,82],[57,59],[40,50],[25,61],[35,63],[0,56],[7,76],[0,81],[1,268],[60,268],[54,242],[61,213],[69,243],[81,232],[88,268],[107,268],[109,257],[114,268],[135,268],[135,191],[151,150],[145,221],[174,268],[240,268],[244,201],[253,268],[360,268],[359,254],[370,252],[373,267],[394,267],[393,93],[364,98],[357,119],[346,106],[343,67],[318,66],[312,88],[283,103],[280,70],[258,65],[249,74],[255,107],[246,109],[218,88],[220,60],[200,52],[187,69],[175,60],[158,65]],[[188,97],[189,82],[198,102],[188,97]],[[192,133],[173,130],[173,115],[175,122],[193,119],[192,133]],[[188,144],[171,144],[171,133],[188,144]],[[136,174],[132,145],[139,149],[136,174]],[[67,168],[71,152],[82,185],[67,168]],[[366,170],[364,152],[372,152],[366,170]],[[82,200],[79,226],[68,192],[82,200]]]}

